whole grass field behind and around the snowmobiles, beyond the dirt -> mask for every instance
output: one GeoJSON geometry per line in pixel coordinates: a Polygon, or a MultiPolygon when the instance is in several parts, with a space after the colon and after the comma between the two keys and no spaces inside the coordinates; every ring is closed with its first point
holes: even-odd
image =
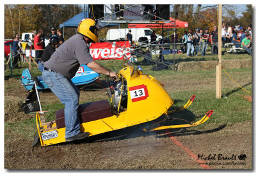
{"type": "MultiPolygon", "coordinates": [[[[249,57],[250,56],[247,56],[247,54],[243,54],[243,56],[225,54],[223,59],[246,59],[249,57]]],[[[178,54],[175,56],[175,59],[179,62],[189,60],[205,61],[217,60],[218,56],[208,55],[205,57],[198,56],[188,59],[184,54],[178,54]]],[[[173,70],[154,71],[152,68],[156,66],[156,64],[142,64],[140,63],[142,60],[143,57],[138,58],[138,64],[142,66],[143,73],[156,77],[157,80],[164,84],[164,88],[170,96],[172,96],[172,99],[175,102],[173,108],[181,107],[188,101],[191,95],[196,95],[195,101],[188,110],[177,113],[174,116],[188,119],[189,121],[197,121],[202,118],[208,110],[214,110],[214,113],[207,122],[193,128],[193,130],[207,130],[210,127],[221,126],[223,124],[232,128],[236,125],[241,126],[241,124],[252,123],[252,102],[249,100],[252,98],[252,94],[237,87],[224,71],[222,71],[221,75],[221,94],[225,94],[227,98],[216,99],[215,70],[191,72],[173,70]]],[[[123,61],[99,61],[99,63],[111,70],[118,71],[122,68],[123,61]]],[[[136,66],[136,64],[134,65],[136,66]]],[[[22,68],[14,69],[13,78],[10,78],[10,69],[7,68],[4,72],[4,143],[6,146],[6,156],[15,152],[14,146],[8,146],[13,140],[19,141],[25,139],[26,141],[31,141],[36,134],[35,115],[26,115],[20,110],[20,104],[25,100],[28,94],[18,80],[20,79],[22,70],[25,68],[28,68],[28,64],[22,63],[22,68]]],[[[240,86],[247,91],[252,92],[252,68],[226,69],[226,71],[240,86]]],[[[31,73],[33,76],[40,75],[40,71],[37,70],[35,65],[33,65],[31,73]]],[[[102,75],[100,80],[104,79],[104,75],[102,75]]],[[[80,103],[108,98],[104,91],[81,91],[80,93],[80,103]]],[[[43,109],[49,111],[45,115],[46,121],[54,120],[55,111],[63,109],[64,107],[52,93],[40,93],[40,100],[43,109]]],[[[220,135],[223,135],[223,133],[229,134],[229,132],[230,131],[228,130],[223,131],[220,135]]],[[[252,132],[248,133],[251,134],[252,132]]],[[[241,133],[241,135],[243,134],[241,133]]],[[[10,158],[8,159],[10,160],[10,158]]],[[[250,167],[250,165],[248,167],[250,167]]]]}

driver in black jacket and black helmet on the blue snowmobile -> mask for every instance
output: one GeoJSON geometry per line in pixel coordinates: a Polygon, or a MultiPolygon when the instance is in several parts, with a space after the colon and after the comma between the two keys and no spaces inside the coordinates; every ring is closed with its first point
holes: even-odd
{"type": "MultiPolygon", "coordinates": [[[[60,46],[60,38],[58,36],[52,36],[50,39],[50,43],[45,47],[45,50],[42,54],[40,61],[38,62],[38,70],[43,72],[44,70],[44,63],[48,61],[52,54],[55,52],[56,49],[60,46]]],[[[41,76],[34,77],[36,85],[38,85],[39,80],[43,80],[41,76]]]]}

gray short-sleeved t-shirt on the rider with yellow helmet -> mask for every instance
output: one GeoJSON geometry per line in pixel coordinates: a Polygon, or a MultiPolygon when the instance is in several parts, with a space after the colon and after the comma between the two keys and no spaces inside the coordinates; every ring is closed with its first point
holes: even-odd
{"type": "Polygon", "coordinates": [[[72,79],[81,64],[92,61],[93,58],[83,36],[76,34],[60,45],[44,66],[72,79]]]}

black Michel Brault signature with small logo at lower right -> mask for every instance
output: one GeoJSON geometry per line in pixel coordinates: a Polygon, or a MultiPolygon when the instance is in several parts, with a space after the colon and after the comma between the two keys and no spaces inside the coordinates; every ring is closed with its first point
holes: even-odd
{"type": "Polygon", "coordinates": [[[237,156],[236,154],[232,154],[232,156],[227,156],[224,154],[209,154],[209,155],[205,155],[205,154],[198,154],[198,160],[244,160],[247,158],[246,154],[240,154],[239,156],[237,156]]]}

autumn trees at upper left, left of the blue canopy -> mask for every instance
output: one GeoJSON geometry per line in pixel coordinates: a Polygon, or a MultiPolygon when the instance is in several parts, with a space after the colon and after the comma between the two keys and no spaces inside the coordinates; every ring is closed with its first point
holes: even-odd
{"type": "MultiPolygon", "coordinates": [[[[58,29],[61,23],[82,11],[78,4],[5,4],[4,38],[38,29],[43,29],[45,36],[48,36],[51,27],[58,29]]],[[[74,29],[65,31],[65,38],[74,33],[74,29]]]]}

